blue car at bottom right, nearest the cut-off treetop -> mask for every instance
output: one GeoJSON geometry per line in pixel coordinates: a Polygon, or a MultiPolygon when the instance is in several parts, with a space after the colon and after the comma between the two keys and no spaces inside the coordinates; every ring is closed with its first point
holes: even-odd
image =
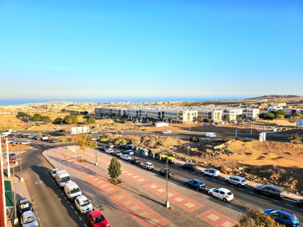
{"type": "Polygon", "coordinates": [[[263,213],[269,215],[276,222],[285,224],[286,226],[297,227],[300,225],[299,219],[293,213],[284,210],[266,209],[263,213]]]}

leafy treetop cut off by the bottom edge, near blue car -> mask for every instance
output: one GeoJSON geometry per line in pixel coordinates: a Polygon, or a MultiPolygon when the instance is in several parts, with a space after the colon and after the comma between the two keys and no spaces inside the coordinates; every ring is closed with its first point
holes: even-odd
{"type": "Polygon", "coordinates": [[[264,214],[263,211],[254,209],[246,209],[247,215],[242,214],[239,219],[240,224],[234,224],[232,227],[283,227],[275,222],[269,215],[264,214]]]}

